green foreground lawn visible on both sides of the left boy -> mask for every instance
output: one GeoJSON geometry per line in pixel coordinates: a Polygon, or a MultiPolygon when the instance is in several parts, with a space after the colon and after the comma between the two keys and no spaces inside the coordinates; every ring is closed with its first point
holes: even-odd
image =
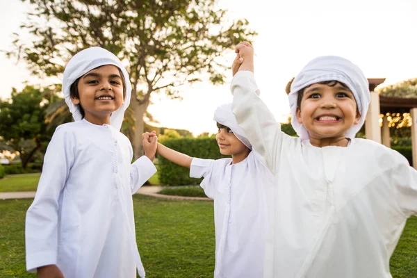
{"type": "MultiPolygon", "coordinates": [[[[24,217],[32,199],[0,201],[0,277],[35,277],[24,261],[24,217]]],[[[147,277],[213,277],[213,202],[135,195],[136,238],[147,277]]]]}

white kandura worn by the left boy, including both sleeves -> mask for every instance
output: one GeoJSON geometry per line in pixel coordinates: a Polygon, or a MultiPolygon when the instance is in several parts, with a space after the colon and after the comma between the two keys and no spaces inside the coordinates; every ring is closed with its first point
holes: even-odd
{"type": "Polygon", "coordinates": [[[131,164],[129,139],[86,120],[56,129],[26,214],[26,268],[56,264],[65,278],[145,277],[131,195],[156,172],[131,164]],[[139,262],[139,263],[137,263],[139,262]]]}

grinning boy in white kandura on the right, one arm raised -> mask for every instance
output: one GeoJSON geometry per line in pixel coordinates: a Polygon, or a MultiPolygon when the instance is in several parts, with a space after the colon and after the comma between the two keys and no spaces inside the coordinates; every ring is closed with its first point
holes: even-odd
{"type": "Polygon", "coordinates": [[[391,278],[389,259],[417,213],[417,171],[354,138],[370,102],[366,77],[341,57],[311,60],[288,96],[294,138],[258,96],[252,45],[236,52],[234,115],[275,175],[264,277],[391,278]]]}

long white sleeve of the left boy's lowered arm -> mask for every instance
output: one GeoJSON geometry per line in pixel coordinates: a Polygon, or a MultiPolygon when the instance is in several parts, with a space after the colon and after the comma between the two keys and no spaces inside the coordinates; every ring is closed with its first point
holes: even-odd
{"type": "Polygon", "coordinates": [[[58,202],[74,163],[74,145],[72,133],[58,126],[44,156],[35,199],[26,213],[28,271],[35,271],[42,265],[57,263],[58,202]]]}

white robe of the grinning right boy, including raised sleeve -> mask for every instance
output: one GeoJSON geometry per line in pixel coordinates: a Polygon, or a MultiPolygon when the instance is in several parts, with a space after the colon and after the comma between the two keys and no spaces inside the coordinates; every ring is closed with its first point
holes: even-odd
{"type": "Polygon", "coordinates": [[[236,120],[275,175],[263,277],[391,278],[389,259],[417,213],[417,171],[371,140],[319,148],[287,136],[252,72],[238,72],[231,92],[236,120]]]}

